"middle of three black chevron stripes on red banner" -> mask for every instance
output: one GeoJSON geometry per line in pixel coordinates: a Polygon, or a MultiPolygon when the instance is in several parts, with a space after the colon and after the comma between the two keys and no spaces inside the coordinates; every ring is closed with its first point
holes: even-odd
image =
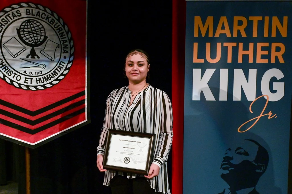
{"type": "Polygon", "coordinates": [[[78,102],[75,102],[75,103],[73,103],[73,104],[70,104],[69,106],[67,106],[67,107],[65,107],[65,108],[62,108],[62,109],[60,109],[60,110],[58,110],[58,111],[55,111],[55,112],[53,112],[53,113],[51,113],[51,114],[48,114],[48,115],[43,116],[43,117],[41,117],[41,118],[38,118],[38,119],[36,119],[36,120],[30,120],[30,119],[24,118],[24,117],[22,117],[22,116],[19,116],[19,115],[16,115],[16,114],[10,113],[10,112],[8,112],[8,111],[4,111],[4,110],[2,110],[2,109],[0,109],[0,114],[1,114],[1,115],[4,115],[4,116],[7,116],[7,117],[10,117],[10,118],[13,118],[13,119],[15,119],[15,120],[18,120],[18,121],[24,122],[24,123],[26,123],[26,124],[33,125],[33,126],[34,126],[34,125],[39,124],[39,123],[41,123],[41,122],[44,122],[44,121],[46,121],[46,120],[48,120],[48,119],[51,119],[51,118],[53,118],[53,117],[55,117],[55,116],[57,116],[57,115],[60,115],[60,114],[62,114],[62,113],[65,113],[66,111],[69,111],[69,110],[71,110],[71,109],[73,109],[73,108],[76,108],[77,106],[80,106],[80,105],[82,105],[82,104],[85,104],[85,99],[80,100],[80,101],[78,101],[78,102]]]}

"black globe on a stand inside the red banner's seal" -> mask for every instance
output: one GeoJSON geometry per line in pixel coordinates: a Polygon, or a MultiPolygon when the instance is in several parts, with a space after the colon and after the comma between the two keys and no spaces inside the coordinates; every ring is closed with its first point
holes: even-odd
{"type": "Polygon", "coordinates": [[[16,29],[18,38],[23,44],[32,47],[30,53],[26,56],[26,58],[40,58],[34,47],[39,47],[47,40],[46,31],[44,26],[36,21],[35,19],[27,19],[20,24],[19,29],[16,29]]]}

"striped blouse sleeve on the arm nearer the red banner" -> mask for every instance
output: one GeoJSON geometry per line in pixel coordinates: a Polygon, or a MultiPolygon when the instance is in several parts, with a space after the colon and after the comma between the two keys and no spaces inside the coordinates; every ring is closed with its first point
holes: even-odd
{"type": "Polygon", "coordinates": [[[105,153],[105,144],[107,140],[107,131],[110,129],[110,122],[111,122],[111,112],[110,112],[110,99],[112,96],[111,92],[109,96],[107,97],[107,103],[106,103],[106,109],[105,109],[105,118],[103,120],[103,127],[102,127],[102,132],[100,134],[100,139],[99,139],[99,146],[97,147],[97,155],[102,154],[104,155],[105,153]]]}

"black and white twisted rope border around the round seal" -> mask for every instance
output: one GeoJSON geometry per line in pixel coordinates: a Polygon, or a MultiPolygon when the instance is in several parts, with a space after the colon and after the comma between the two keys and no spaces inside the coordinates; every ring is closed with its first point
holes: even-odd
{"type": "Polygon", "coordinates": [[[64,69],[64,71],[62,72],[62,74],[60,74],[56,79],[54,79],[53,81],[44,84],[44,85],[40,85],[40,86],[28,86],[28,85],[24,85],[24,84],[19,84],[13,80],[11,80],[9,77],[5,76],[1,71],[0,71],[0,77],[5,80],[7,83],[15,86],[16,88],[21,88],[24,90],[44,90],[46,88],[51,88],[52,86],[56,85],[57,83],[59,83],[65,76],[66,74],[69,72],[70,67],[73,64],[73,59],[74,59],[74,44],[73,44],[73,39],[71,37],[71,33],[68,29],[68,26],[65,24],[65,22],[63,22],[63,20],[58,17],[58,15],[55,12],[52,12],[50,9],[43,7],[41,5],[35,5],[33,3],[19,3],[19,4],[13,4],[9,7],[3,8],[0,11],[0,19],[3,15],[5,15],[6,13],[10,12],[11,10],[14,9],[18,9],[18,8],[39,8],[40,10],[45,11],[46,13],[48,13],[49,15],[53,16],[55,19],[57,19],[57,21],[62,25],[64,31],[67,34],[68,37],[68,44],[70,45],[70,54],[69,54],[69,60],[68,63],[66,65],[66,68],[64,69]]]}

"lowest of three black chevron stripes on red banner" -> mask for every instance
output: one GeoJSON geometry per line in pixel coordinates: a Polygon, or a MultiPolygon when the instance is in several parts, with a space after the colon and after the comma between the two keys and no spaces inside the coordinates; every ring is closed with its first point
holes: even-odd
{"type": "Polygon", "coordinates": [[[48,124],[45,124],[44,126],[41,126],[39,128],[36,128],[36,129],[29,129],[27,127],[23,127],[21,125],[15,124],[15,123],[10,122],[10,121],[6,121],[6,120],[1,119],[1,118],[0,118],[0,123],[6,125],[8,127],[12,127],[14,129],[18,129],[19,131],[22,131],[22,132],[25,132],[25,133],[34,135],[34,134],[37,134],[37,133],[39,133],[41,131],[44,131],[44,130],[50,128],[50,127],[53,127],[56,124],[59,124],[59,123],[61,123],[63,121],[66,121],[66,120],[72,118],[72,117],[75,117],[75,116],[77,116],[77,115],[79,115],[81,113],[84,113],[84,112],[85,112],[85,108],[82,108],[82,109],[80,109],[78,111],[75,111],[74,113],[71,113],[69,115],[66,115],[66,116],[64,116],[64,117],[62,117],[60,119],[57,119],[57,120],[55,120],[53,122],[50,122],[48,124]]]}

